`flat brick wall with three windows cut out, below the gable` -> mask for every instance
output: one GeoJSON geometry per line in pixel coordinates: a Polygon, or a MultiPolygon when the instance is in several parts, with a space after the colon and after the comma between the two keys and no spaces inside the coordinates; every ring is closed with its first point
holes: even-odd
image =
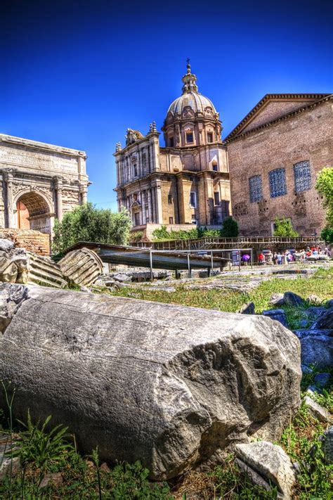
{"type": "Polygon", "coordinates": [[[322,199],[315,190],[318,172],[333,165],[332,101],[310,108],[235,139],[228,144],[233,216],[240,234],[269,236],[275,217],[288,217],[300,236],[318,236],[325,225],[322,199]],[[296,195],[293,165],[309,160],[311,189],[296,195]],[[285,168],[287,194],[270,198],[268,172],[285,168]],[[249,177],[261,174],[263,200],[250,203],[249,177]]]}

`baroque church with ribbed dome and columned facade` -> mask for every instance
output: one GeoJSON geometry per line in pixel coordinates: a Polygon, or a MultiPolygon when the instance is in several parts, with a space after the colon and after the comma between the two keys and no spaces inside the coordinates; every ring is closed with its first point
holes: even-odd
{"type": "Polygon", "coordinates": [[[230,182],[221,121],[197,88],[190,64],[183,93],[166,113],[159,145],[155,122],[147,134],[127,129],[117,143],[117,202],[131,213],[134,229],[148,224],[220,226],[230,214],[230,182]]]}

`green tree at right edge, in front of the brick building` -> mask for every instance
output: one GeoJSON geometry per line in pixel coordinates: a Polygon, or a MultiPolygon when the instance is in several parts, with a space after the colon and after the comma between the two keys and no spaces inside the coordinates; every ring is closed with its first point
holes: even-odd
{"type": "Polygon", "coordinates": [[[333,167],[320,170],[315,188],[323,197],[323,205],[326,208],[326,226],[322,230],[321,237],[333,243],[333,167]]]}

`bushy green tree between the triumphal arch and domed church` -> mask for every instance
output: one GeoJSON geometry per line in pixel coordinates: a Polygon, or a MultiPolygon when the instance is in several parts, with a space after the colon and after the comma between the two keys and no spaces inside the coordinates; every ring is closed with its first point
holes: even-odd
{"type": "Polygon", "coordinates": [[[78,241],[126,245],[131,225],[127,210],[113,213],[86,203],[67,212],[61,222],[55,221],[53,251],[63,252],[78,241]]]}

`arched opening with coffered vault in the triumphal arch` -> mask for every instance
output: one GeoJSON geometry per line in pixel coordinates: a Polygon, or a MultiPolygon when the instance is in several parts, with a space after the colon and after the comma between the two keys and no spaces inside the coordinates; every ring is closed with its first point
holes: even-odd
{"type": "Polygon", "coordinates": [[[19,229],[51,233],[51,213],[46,200],[33,191],[22,194],[16,203],[16,224],[19,229]]]}

